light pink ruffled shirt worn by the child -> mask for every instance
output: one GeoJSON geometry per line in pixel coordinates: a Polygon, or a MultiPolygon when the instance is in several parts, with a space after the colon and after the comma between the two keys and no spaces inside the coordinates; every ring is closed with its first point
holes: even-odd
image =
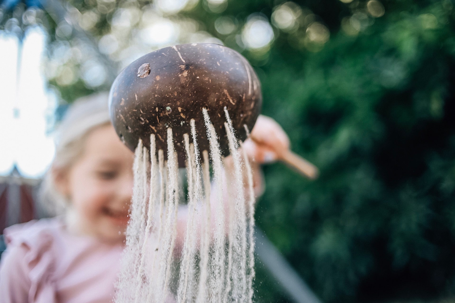
{"type": "Polygon", "coordinates": [[[60,219],[5,229],[1,303],[110,303],[120,270],[120,245],[66,232],[60,219]]]}

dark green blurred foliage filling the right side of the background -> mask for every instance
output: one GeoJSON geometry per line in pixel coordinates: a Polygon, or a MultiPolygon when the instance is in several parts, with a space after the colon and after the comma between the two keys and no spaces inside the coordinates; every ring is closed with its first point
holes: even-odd
{"type": "MultiPolygon", "coordinates": [[[[100,1],[70,2],[84,13],[100,1]]],[[[116,5],[133,2],[149,3],[116,5]]],[[[298,25],[274,24],[259,49],[239,41],[243,25],[273,20],[284,1],[226,3],[202,0],[180,15],[252,62],[263,114],[321,171],[308,181],[265,166],[257,224],[325,302],[454,295],[453,1],[294,1],[298,25]],[[220,34],[223,16],[236,30],[220,34]]],[[[111,18],[101,13],[92,34],[105,35],[111,18]]],[[[96,90],[52,81],[68,101],[96,90]]],[[[256,282],[257,302],[287,302],[260,265],[256,282]]]]}

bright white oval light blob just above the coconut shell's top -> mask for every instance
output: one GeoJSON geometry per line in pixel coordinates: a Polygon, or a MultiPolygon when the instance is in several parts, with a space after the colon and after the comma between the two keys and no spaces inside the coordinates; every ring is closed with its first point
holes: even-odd
{"type": "Polygon", "coordinates": [[[141,38],[150,46],[169,44],[178,38],[178,29],[171,20],[163,19],[141,30],[141,38]]]}

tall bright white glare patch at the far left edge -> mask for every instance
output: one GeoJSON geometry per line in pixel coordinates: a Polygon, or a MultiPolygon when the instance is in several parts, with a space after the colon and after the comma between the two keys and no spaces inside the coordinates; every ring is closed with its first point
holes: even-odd
{"type": "Polygon", "coordinates": [[[17,41],[1,36],[0,60],[0,174],[8,174],[15,163],[20,174],[38,178],[44,174],[54,155],[52,139],[46,135],[49,101],[41,72],[45,34],[35,27],[27,31],[22,49],[20,81],[16,93],[17,41]]]}

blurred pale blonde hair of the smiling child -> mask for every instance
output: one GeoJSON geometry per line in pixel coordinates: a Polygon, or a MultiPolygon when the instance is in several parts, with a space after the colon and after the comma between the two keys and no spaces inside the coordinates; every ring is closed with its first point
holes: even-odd
{"type": "Polygon", "coordinates": [[[40,188],[40,199],[50,215],[62,214],[68,199],[56,189],[53,169],[69,169],[82,154],[87,135],[110,124],[108,93],[91,94],[74,101],[55,132],[56,152],[40,188]]]}

